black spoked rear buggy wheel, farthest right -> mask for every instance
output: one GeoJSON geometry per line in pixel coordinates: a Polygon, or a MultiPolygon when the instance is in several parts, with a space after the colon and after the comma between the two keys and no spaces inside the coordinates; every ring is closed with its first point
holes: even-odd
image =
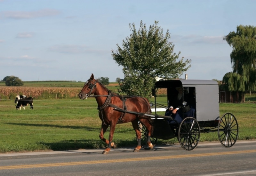
{"type": "Polygon", "coordinates": [[[231,113],[224,114],[218,124],[218,137],[221,145],[232,147],[238,137],[238,123],[236,117],[231,113]]]}

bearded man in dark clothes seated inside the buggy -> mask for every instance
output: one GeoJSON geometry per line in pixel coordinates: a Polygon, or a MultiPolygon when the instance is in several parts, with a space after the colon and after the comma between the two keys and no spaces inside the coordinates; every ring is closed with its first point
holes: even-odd
{"type": "MultiPolygon", "coordinates": [[[[176,102],[173,105],[175,109],[172,110],[172,118],[175,119],[178,123],[181,123],[182,120],[186,117],[194,117],[195,109],[190,108],[189,104],[184,106],[182,102],[188,102],[188,97],[183,93],[183,87],[177,87],[176,90],[179,92],[177,98],[175,99],[176,102]]],[[[188,102],[189,103],[189,102],[188,102]]],[[[176,123],[175,121],[171,121],[170,123],[176,123]]]]}

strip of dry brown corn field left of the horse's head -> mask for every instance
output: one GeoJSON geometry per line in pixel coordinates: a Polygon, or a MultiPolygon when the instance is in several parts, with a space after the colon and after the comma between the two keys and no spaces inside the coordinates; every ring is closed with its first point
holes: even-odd
{"type": "Polygon", "coordinates": [[[17,95],[26,95],[36,99],[78,98],[81,88],[58,87],[1,87],[0,99],[15,99],[17,95]]]}

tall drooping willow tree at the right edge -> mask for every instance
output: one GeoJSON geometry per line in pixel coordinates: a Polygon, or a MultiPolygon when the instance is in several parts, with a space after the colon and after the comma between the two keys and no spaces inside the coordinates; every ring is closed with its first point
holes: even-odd
{"type": "Polygon", "coordinates": [[[236,32],[229,32],[223,39],[233,48],[230,54],[233,74],[226,74],[223,82],[244,102],[245,91],[256,90],[256,27],[239,25],[236,32]]]}

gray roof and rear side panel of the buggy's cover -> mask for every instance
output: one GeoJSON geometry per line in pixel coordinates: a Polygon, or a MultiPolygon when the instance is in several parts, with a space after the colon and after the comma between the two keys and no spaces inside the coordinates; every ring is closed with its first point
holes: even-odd
{"type": "Polygon", "coordinates": [[[155,88],[170,89],[175,87],[195,87],[196,90],[196,119],[197,121],[216,120],[220,117],[219,112],[219,85],[213,80],[163,80],[155,83],[155,88]]]}

